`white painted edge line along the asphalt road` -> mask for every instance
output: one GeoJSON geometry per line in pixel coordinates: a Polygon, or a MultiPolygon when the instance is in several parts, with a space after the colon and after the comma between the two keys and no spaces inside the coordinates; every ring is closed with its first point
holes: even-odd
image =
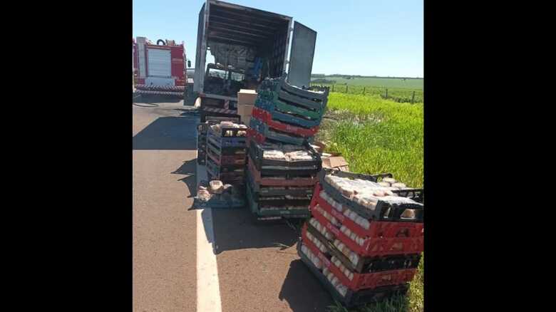
{"type": "MultiPolygon", "coordinates": [[[[205,166],[196,164],[196,180],[207,180],[205,166]]],[[[196,190],[195,190],[196,191],[196,190]]],[[[197,312],[221,312],[212,209],[197,209],[197,312]]]]}

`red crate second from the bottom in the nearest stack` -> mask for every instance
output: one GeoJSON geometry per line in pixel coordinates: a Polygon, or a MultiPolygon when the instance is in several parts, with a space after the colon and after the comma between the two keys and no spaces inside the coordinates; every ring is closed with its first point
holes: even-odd
{"type": "Polygon", "coordinates": [[[328,259],[327,256],[322,254],[315,244],[307,237],[307,224],[304,224],[302,229],[302,241],[305,246],[309,247],[309,249],[319,257],[323,266],[326,266],[326,268],[340,280],[341,284],[344,284],[353,291],[405,284],[413,279],[417,271],[417,269],[398,269],[367,274],[351,272],[354,274],[354,278],[350,280],[339,267],[328,259]]]}

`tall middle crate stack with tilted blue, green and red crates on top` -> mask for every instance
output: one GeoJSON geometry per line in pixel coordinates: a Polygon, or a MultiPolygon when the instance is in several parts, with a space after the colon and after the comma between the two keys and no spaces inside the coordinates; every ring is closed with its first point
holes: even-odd
{"type": "Polygon", "coordinates": [[[309,143],[319,130],[328,92],[294,87],[285,76],[259,85],[247,129],[247,202],[257,219],[310,216],[322,161],[309,143]]]}

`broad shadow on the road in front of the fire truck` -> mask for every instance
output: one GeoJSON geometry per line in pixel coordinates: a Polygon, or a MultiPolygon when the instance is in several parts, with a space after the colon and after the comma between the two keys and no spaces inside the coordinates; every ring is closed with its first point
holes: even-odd
{"type": "Polygon", "coordinates": [[[159,117],[133,137],[133,150],[196,150],[199,118],[159,117]]]}

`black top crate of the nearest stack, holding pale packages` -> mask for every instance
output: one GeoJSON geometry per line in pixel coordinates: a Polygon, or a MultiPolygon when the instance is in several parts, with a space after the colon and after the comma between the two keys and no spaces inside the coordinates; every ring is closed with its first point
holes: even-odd
{"type": "Polygon", "coordinates": [[[397,222],[413,222],[411,219],[403,219],[401,218],[401,214],[406,209],[415,209],[416,212],[416,219],[420,219],[421,222],[423,220],[423,212],[424,206],[421,203],[403,203],[403,204],[393,204],[390,202],[385,202],[383,200],[379,200],[376,203],[376,207],[374,210],[368,209],[357,202],[347,198],[344,194],[336,189],[335,187],[331,186],[326,180],[324,180],[325,175],[336,175],[339,177],[349,177],[351,179],[361,179],[361,180],[370,180],[373,182],[377,182],[379,177],[392,177],[391,174],[380,174],[380,175],[361,175],[352,172],[344,172],[339,170],[321,170],[319,172],[319,183],[321,187],[332,197],[336,202],[340,204],[345,204],[349,209],[353,210],[357,214],[361,215],[366,219],[372,220],[385,220],[385,221],[397,221],[397,222]],[[389,213],[386,215],[386,212],[389,213]]]}

